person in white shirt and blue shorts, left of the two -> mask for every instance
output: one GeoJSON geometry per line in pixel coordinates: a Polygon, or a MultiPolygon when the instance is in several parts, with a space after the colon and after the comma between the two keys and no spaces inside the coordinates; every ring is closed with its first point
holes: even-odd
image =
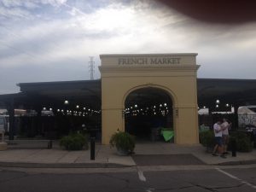
{"type": "Polygon", "coordinates": [[[223,144],[222,144],[222,127],[221,127],[221,120],[218,119],[218,121],[213,125],[213,131],[214,131],[214,137],[215,137],[215,146],[212,151],[213,156],[218,156],[217,152],[219,152],[221,155],[220,157],[226,158],[226,156],[223,153],[223,144]]]}

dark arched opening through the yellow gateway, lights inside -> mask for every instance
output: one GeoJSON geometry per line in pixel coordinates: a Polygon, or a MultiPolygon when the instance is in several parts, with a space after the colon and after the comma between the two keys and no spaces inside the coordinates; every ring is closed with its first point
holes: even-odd
{"type": "Polygon", "coordinates": [[[172,98],[166,90],[148,86],[131,91],[124,113],[125,131],[137,140],[162,141],[165,133],[166,141],[174,142],[172,98]]]}

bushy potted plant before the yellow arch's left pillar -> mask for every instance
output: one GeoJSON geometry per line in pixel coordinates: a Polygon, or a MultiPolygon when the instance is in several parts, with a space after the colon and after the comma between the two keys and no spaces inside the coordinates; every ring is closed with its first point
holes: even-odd
{"type": "Polygon", "coordinates": [[[124,131],[115,132],[110,138],[109,143],[112,147],[116,147],[121,155],[132,154],[135,148],[135,138],[124,131]]]}

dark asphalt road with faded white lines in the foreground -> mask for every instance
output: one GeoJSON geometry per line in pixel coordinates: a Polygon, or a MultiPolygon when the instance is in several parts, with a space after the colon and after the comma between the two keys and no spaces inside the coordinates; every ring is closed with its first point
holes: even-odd
{"type": "Polygon", "coordinates": [[[3,192],[253,192],[256,190],[255,166],[207,167],[205,169],[147,170],[129,172],[20,172],[0,169],[3,192]]]}

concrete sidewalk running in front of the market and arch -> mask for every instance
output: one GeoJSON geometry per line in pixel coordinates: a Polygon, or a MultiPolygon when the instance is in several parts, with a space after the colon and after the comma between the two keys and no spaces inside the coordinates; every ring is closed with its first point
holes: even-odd
{"type": "MultiPolygon", "coordinates": [[[[207,165],[245,165],[256,164],[256,150],[250,153],[237,152],[236,157],[231,154],[226,159],[213,157],[206,152],[201,144],[181,146],[173,143],[137,143],[135,154],[193,154],[207,165]]],[[[63,150],[54,143],[51,149],[40,148],[8,148],[0,151],[0,166],[15,167],[124,167],[137,166],[132,156],[119,156],[115,148],[96,143],[96,159],[90,160],[90,149],[81,151],[63,150]]]]}

